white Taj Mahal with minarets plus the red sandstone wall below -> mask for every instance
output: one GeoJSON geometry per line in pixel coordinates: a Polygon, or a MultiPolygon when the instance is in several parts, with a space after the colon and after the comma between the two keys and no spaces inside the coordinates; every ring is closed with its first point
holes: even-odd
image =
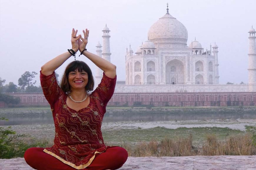
{"type": "MultiPolygon", "coordinates": [[[[102,45],[96,45],[96,53],[111,61],[107,25],[102,32],[102,45]]],[[[248,84],[219,84],[221,47],[215,43],[204,49],[196,39],[187,44],[188,31],[169,14],[167,4],[166,14],[149,28],[148,40],[136,52],[131,45],[126,49],[125,81],[117,81],[108,106],[255,106],[255,29],[250,28],[248,39],[248,84]]],[[[94,78],[98,85],[101,69],[97,68],[94,78]]],[[[22,105],[48,105],[43,94],[11,95],[19,97],[22,105]]]]}

